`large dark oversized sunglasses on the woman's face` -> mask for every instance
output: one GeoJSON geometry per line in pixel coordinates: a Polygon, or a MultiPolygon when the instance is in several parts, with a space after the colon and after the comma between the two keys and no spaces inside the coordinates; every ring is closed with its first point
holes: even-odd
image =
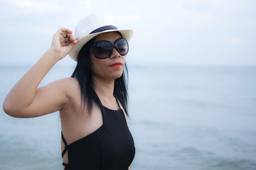
{"type": "Polygon", "coordinates": [[[127,55],[129,50],[129,45],[127,40],[124,38],[119,38],[112,44],[112,42],[107,40],[102,40],[95,42],[90,48],[89,52],[92,52],[98,59],[106,59],[112,55],[114,47],[117,49],[120,55],[127,55]]]}

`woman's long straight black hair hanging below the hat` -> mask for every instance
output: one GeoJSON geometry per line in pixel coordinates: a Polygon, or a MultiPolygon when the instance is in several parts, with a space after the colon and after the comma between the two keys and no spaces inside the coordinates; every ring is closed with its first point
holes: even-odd
{"type": "MultiPolygon", "coordinates": [[[[88,41],[80,50],[78,54],[78,64],[75,67],[75,70],[71,77],[78,79],[80,85],[80,93],[81,93],[81,106],[87,106],[87,110],[89,115],[92,112],[93,103],[96,103],[97,106],[100,107],[100,99],[97,97],[95,89],[93,88],[92,82],[92,70],[90,67],[90,56],[89,50],[92,46],[94,38],[88,41]]],[[[127,64],[124,64],[124,71],[122,72],[122,76],[114,80],[114,96],[117,98],[119,103],[121,103],[124,108],[124,112],[128,115],[127,111],[127,81],[128,78],[128,69],[127,64]]]]}

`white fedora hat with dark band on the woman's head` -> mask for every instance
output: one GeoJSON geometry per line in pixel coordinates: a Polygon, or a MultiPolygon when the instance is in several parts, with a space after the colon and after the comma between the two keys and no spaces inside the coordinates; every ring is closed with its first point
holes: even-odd
{"type": "Polygon", "coordinates": [[[103,12],[92,13],[90,16],[83,18],[77,26],[75,26],[75,38],[80,38],[78,43],[73,47],[69,53],[70,57],[78,61],[78,53],[82,47],[100,33],[107,33],[112,31],[119,31],[122,37],[127,41],[131,40],[133,30],[119,30],[111,19],[103,12]]]}

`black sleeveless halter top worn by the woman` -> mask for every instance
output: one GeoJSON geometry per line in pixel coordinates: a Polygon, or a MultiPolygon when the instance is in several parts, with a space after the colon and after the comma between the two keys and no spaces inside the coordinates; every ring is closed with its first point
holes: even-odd
{"type": "Polygon", "coordinates": [[[101,103],[100,109],[103,124],[95,132],[70,145],[61,133],[65,145],[62,157],[68,150],[68,164],[63,163],[65,170],[127,170],[132,163],[134,140],[124,112],[120,106],[114,111],[101,103]]]}

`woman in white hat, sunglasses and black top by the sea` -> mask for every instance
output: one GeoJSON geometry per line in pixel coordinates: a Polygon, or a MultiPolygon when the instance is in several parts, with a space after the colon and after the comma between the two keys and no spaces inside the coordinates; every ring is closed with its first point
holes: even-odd
{"type": "Polygon", "coordinates": [[[127,127],[125,58],[132,30],[119,30],[105,13],[61,28],[50,49],[18,81],[4,111],[32,118],[60,111],[64,169],[129,169],[134,141],[127,127]],[[72,78],[38,89],[50,68],[70,55],[78,61],[72,78]]]}

